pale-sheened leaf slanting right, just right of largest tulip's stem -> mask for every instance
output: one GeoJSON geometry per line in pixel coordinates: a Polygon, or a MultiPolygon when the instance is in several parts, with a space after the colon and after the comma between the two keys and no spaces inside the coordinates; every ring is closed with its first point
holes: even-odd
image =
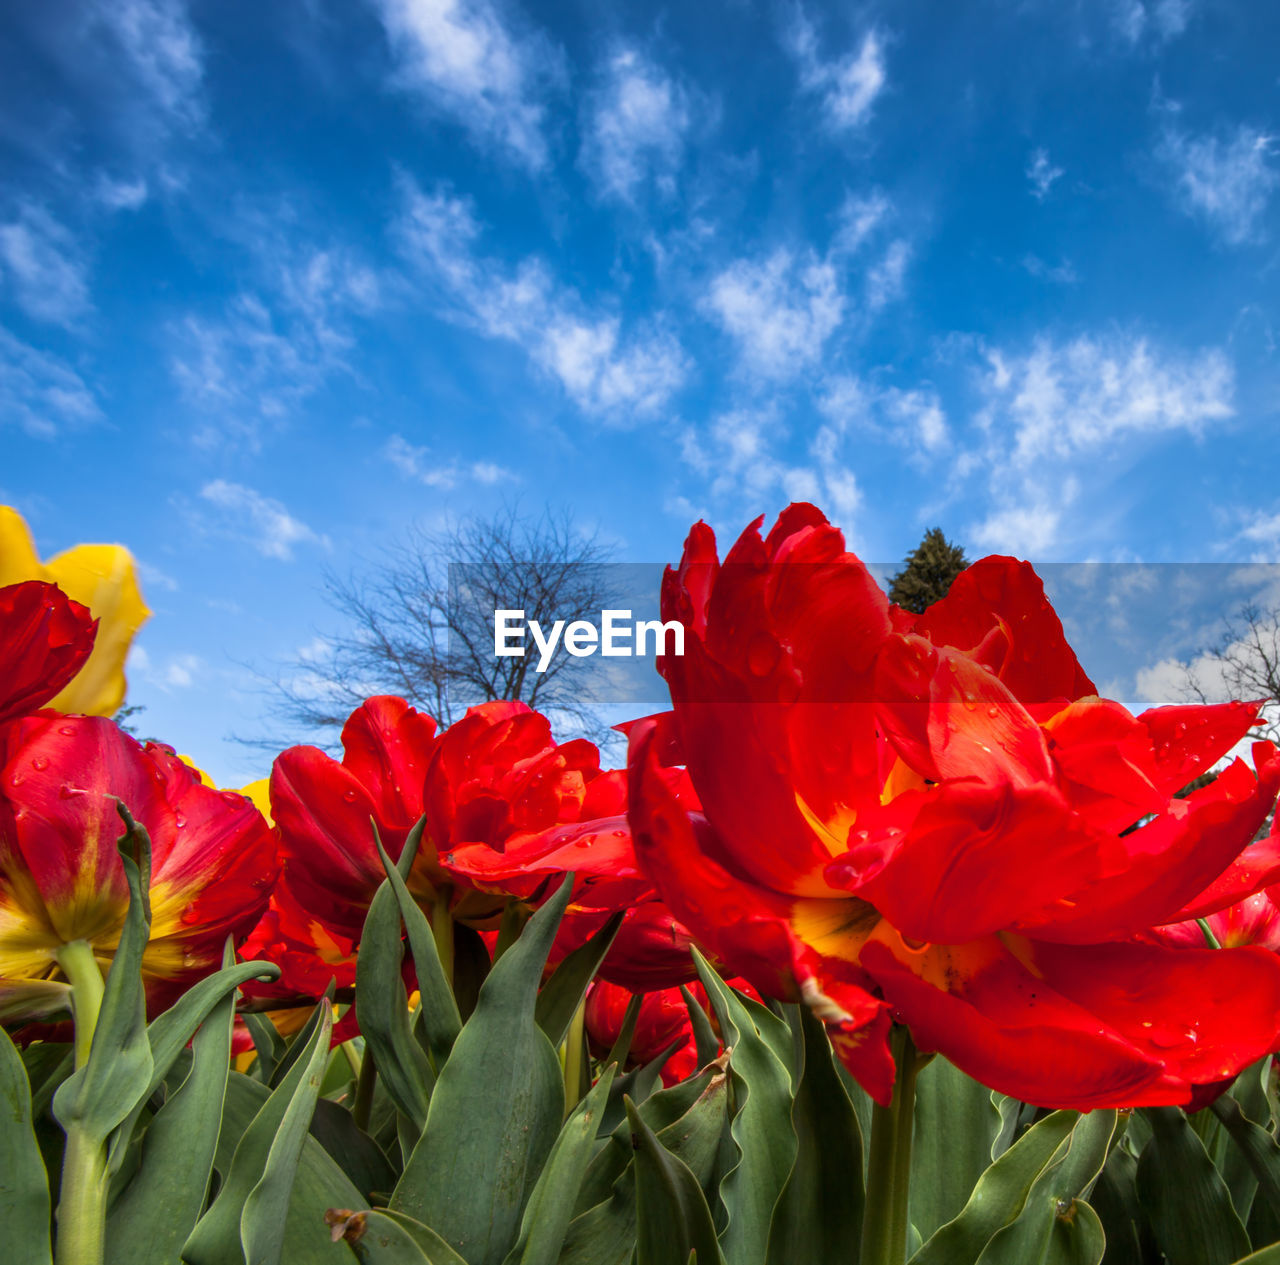
{"type": "Polygon", "coordinates": [[[1021,1213],[1036,1179],[1078,1120],[1074,1111],[1055,1111],[1028,1129],[983,1173],[960,1214],[924,1241],[910,1265],[977,1261],[988,1241],[1021,1213]]]}

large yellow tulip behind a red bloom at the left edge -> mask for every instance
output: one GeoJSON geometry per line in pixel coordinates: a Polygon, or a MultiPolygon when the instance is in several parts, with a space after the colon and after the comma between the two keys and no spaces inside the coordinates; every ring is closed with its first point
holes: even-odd
{"type": "Polygon", "coordinates": [[[124,702],[129,644],[151,613],[138,590],[133,556],[119,544],[77,544],[42,563],[22,515],[0,506],[0,586],[23,580],[56,584],[99,621],[88,662],[47,705],[114,716],[124,702]]]}

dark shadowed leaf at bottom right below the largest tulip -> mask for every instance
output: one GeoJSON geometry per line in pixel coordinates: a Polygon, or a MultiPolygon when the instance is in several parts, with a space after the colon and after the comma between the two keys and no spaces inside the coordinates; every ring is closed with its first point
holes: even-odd
{"type": "Polygon", "coordinates": [[[1147,1108],[1151,1141],[1138,1159],[1138,1197],[1169,1265],[1230,1265],[1249,1251],[1231,1196],[1178,1108],[1147,1108]]]}

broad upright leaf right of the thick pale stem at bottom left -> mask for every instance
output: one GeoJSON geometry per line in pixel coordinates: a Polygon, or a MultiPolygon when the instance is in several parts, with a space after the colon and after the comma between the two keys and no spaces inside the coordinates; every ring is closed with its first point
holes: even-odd
{"type": "Polygon", "coordinates": [[[218,1151],[234,1018],[232,986],[192,1040],[186,1079],[147,1125],[138,1172],[108,1218],[108,1265],[172,1265],[195,1229],[218,1151]]]}

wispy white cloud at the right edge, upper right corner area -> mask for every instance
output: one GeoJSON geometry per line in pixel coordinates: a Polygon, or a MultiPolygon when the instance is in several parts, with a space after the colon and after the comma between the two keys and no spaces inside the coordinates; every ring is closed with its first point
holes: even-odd
{"type": "Polygon", "coordinates": [[[1228,140],[1170,127],[1158,156],[1172,170],[1181,209],[1239,246],[1262,236],[1260,222],[1280,184],[1280,170],[1271,163],[1275,146],[1275,137],[1251,127],[1228,140]]]}

